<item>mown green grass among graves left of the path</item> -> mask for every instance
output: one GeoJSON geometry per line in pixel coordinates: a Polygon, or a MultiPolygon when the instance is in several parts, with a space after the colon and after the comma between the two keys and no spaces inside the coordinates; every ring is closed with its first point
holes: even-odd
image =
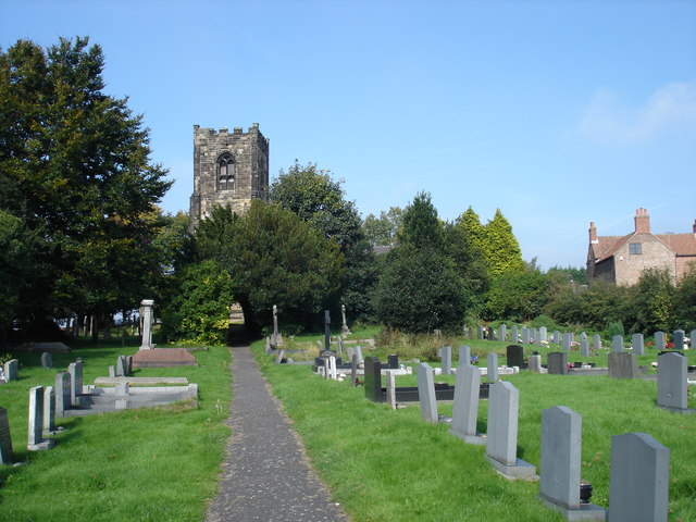
{"type": "MultiPolygon", "coordinates": [[[[115,344],[115,341],[114,341],[115,344]]],[[[53,355],[42,370],[40,356],[18,356],[20,381],[0,386],[8,409],[15,462],[0,467],[0,520],[199,521],[214,496],[229,430],[229,351],[195,351],[199,366],[140,369],[134,376],[185,376],[199,385],[198,407],[190,402],[154,409],[57,418],[66,430],[49,451],[27,451],[28,390],[54,384],[76,357],[84,360],[84,383],[108,375],[129,346],[98,346],[53,355]]],[[[77,344],[71,344],[75,347],[77,344]]],[[[87,345],[85,345],[87,346],[87,345]]]]}

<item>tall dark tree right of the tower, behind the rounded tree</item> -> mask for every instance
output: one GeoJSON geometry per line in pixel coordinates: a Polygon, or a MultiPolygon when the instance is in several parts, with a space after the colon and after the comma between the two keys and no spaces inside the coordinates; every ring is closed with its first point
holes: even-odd
{"type": "Polygon", "coordinates": [[[334,182],[327,171],[318,170],[316,164],[300,165],[296,161],[271,184],[269,199],[339,246],[346,270],[336,301],[327,306],[337,312],[340,296],[352,319],[368,319],[372,310],[365,296],[376,284],[374,254],[355,203],[345,200],[340,184],[334,182]]]}

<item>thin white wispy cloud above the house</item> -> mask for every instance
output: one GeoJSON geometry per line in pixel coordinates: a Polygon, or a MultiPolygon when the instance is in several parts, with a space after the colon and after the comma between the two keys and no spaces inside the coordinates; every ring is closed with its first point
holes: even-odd
{"type": "Polygon", "coordinates": [[[600,89],[583,112],[580,133],[607,145],[644,144],[670,132],[696,134],[696,80],[660,87],[639,107],[600,89]]]}

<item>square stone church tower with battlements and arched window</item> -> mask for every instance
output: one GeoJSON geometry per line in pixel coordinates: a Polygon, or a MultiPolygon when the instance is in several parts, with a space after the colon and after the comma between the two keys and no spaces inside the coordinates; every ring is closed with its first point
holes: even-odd
{"type": "Polygon", "coordinates": [[[244,214],[251,200],[266,197],[269,140],[254,123],[248,133],[235,127],[215,132],[194,125],[194,194],[190,228],[210,215],[213,207],[229,203],[244,214]]]}

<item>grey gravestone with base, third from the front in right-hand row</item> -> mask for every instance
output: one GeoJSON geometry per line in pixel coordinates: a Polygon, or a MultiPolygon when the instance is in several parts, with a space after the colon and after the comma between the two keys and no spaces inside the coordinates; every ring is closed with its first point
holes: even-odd
{"type": "Polygon", "coordinates": [[[517,458],[520,391],[508,382],[490,385],[486,458],[508,478],[532,478],[536,468],[517,458]]]}

